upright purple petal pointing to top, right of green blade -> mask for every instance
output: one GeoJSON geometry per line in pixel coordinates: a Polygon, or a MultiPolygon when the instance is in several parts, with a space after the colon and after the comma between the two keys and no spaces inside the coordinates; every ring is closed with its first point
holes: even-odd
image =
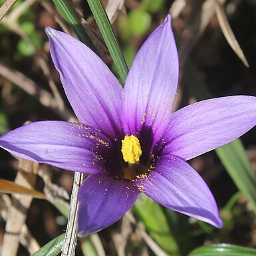
{"type": "Polygon", "coordinates": [[[142,127],[162,134],[170,120],[178,86],[178,53],[171,17],[152,33],[130,68],[123,95],[124,130],[136,134],[142,127]]]}

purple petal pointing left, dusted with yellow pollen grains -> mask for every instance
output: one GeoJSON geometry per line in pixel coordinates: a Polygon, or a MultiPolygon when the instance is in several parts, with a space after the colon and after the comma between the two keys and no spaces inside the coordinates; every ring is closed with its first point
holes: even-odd
{"type": "Polygon", "coordinates": [[[107,175],[115,166],[110,140],[83,124],[33,122],[1,136],[0,146],[21,158],[74,172],[107,175]]]}

